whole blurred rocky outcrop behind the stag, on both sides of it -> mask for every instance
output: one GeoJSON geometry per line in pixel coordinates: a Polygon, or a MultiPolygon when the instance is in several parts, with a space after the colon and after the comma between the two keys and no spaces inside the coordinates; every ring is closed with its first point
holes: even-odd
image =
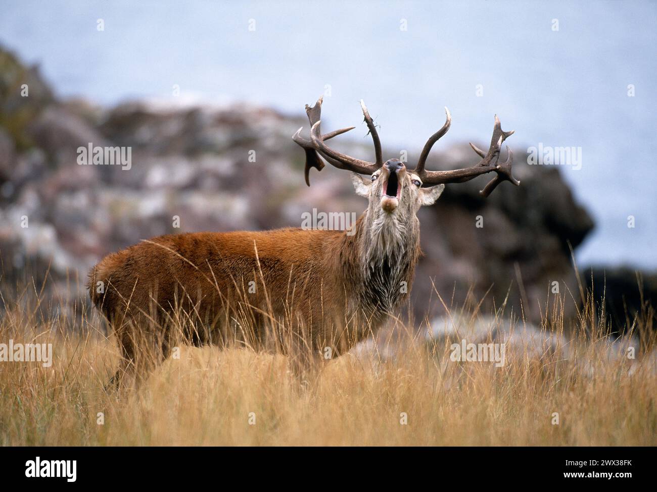
{"type": "MultiPolygon", "coordinates": [[[[0,107],[28,104],[14,93],[21,77],[3,82],[0,107]]],[[[298,127],[307,127],[301,110],[289,117],[244,105],[182,108],[133,102],[94,108],[57,101],[37,72],[30,77],[29,104],[38,101],[38,107],[25,110],[29,117],[20,125],[5,117],[0,122],[5,279],[37,274],[53,258],[51,274],[55,279],[65,278],[67,270],[77,275],[81,294],[95,261],[141,239],[300,226],[301,214],[313,208],[365,209],[344,171],[327,166],[313,171],[311,188],[304,184],[304,152],[291,138],[298,127]],[[129,146],[131,169],[78,165],[76,150],[89,142],[129,146]],[[22,226],[25,217],[28,227],[22,226]]],[[[358,155],[371,151],[346,137],[336,138],[336,146],[358,155]]],[[[432,154],[428,169],[472,165],[477,157],[465,154],[465,148],[432,154]]],[[[477,192],[484,176],[448,185],[437,205],[420,211],[425,256],[413,288],[417,321],[427,312],[444,311],[432,281],[448,306],[484,298],[482,309],[499,307],[508,292],[508,304],[518,312],[522,300],[530,318],[548,301],[551,282],[559,283],[562,296],[566,287],[576,290],[568,241],[573,247],[581,243],[593,227],[590,216],[556,169],[529,166],[516,153],[514,174],[522,181],[519,188],[505,183],[482,199],[477,192]],[[483,227],[477,227],[479,217],[483,227]]]]}

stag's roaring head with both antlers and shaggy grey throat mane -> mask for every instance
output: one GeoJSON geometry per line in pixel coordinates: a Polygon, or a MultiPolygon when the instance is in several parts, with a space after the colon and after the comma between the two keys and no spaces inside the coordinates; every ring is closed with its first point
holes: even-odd
{"type": "Polygon", "coordinates": [[[483,152],[470,144],[474,152],[482,157],[476,165],[454,171],[426,171],[426,158],[432,146],[447,133],[451,125],[451,115],[445,108],[445,124],[426,142],[415,169],[411,171],[399,159],[384,162],[376,127],[362,101],[365,123],[374,142],[374,162],[361,161],[328,147],[327,140],[353,127],[321,134],[321,104],[322,98],[319,98],[315,106],[306,106],[311,125],[310,139],[301,136],[302,129],[292,137],[306,151],[306,184],[310,186],[308,173],[311,167],[318,171],[324,167],[320,155],[338,169],[353,171],[357,194],[369,199],[368,209],[359,219],[355,230],[357,239],[353,246],[359,260],[353,265],[353,270],[362,273],[361,277],[354,280],[354,285],[360,285],[359,295],[363,305],[371,306],[374,312],[390,312],[405,297],[399,294],[399,285],[410,285],[413,279],[420,254],[420,224],[416,214],[422,205],[434,203],[445,183],[468,181],[491,171],[496,176],[480,192],[483,196],[489,195],[504,180],[520,184],[511,175],[513,154],[508,147],[507,160],[498,163],[502,142],[513,132],[502,131],[499,119],[495,116],[488,151],[483,152]]]}

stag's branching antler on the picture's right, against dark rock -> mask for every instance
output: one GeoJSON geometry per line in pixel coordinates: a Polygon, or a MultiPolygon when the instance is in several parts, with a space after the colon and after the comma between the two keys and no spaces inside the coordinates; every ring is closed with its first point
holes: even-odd
{"type": "Polygon", "coordinates": [[[472,178],[476,178],[476,176],[479,176],[480,174],[490,173],[491,171],[495,171],[495,173],[497,173],[497,176],[495,176],[495,178],[493,178],[484,187],[484,189],[479,192],[480,195],[484,197],[490,195],[491,192],[495,190],[495,187],[503,181],[510,181],[516,186],[520,184],[520,181],[514,178],[511,174],[511,165],[513,163],[513,152],[511,152],[509,146],[507,146],[507,153],[508,153],[507,160],[504,163],[501,164],[498,163],[499,152],[502,146],[502,142],[504,142],[514,132],[503,131],[497,115],[495,115],[495,126],[493,127],[493,137],[491,138],[491,144],[488,149],[488,152],[484,152],[483,150],[476,148],[476,146],[474,146],[472,143],[470,144],[472,150],[474,150],[474,152],[476,152],[480,157],[482,157],[482,160],[479,163],[477,163],[472,167],[466,167],[464,169],[455,169],[453,171],[425,171],[424,165],[426,163],[426,158],[428,157],[432,146],[436,142],[438,142],[438,139],[440,139],[440,137],[442,137],[445,133],[447,133],[447,130],[449,130],[449,126],[451,125],[451,114],[449,114],[449,110],[447,108],[445,108],[445,113],[447,114],[447,119],[445,121],[445,124],[443,125],[442,129],[434,133],[429,138],[429,140],[427,140],[426,144],[424,144],[424,148],[422,149],[422,154],[420,154],[420,159],[417,163],[417,166],[415,167],[415,170],[413,171],[415,174],[420,176],[420,179],[424,184],[431,186],[434,184],[441,184],[441,183],[462,183],[465,181],[469,181],[472,178]]]}

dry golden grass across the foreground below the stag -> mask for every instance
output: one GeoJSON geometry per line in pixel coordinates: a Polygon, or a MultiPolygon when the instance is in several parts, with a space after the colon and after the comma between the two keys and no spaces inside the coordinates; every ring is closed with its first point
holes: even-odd
{"type": "Polygon", "coordinates": [[[514,350],[499,368],[451,362],[448,344],[416,337],[387,361],[329,361],[298,390],[284,356],[183,347],[139,390],[108,394],[119,356],[101,320],[85,308],[45,315],[52,306],[26,300],[34,290],[4,296],[0,342],[52,343],[54,361],[0,363],[1,445],[657,444],[654,330],[635,360],[613,356],[593,312],[574,323],[566,359],[514,350]]]}

